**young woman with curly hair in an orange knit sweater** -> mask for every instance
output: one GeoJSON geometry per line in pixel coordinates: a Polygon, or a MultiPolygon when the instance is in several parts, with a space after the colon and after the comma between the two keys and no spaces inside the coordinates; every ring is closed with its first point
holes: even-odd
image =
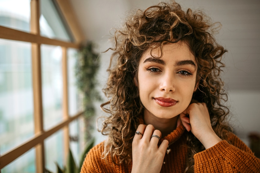
{"type": "Polygon", "coordinates": [[[111,114],[102,129],[109,137],[81,172],[260,172],[260,160],[225,122],[226,50],[208,21],[160,3],[116,31],[109,101],[101,105],[111,114]]]}

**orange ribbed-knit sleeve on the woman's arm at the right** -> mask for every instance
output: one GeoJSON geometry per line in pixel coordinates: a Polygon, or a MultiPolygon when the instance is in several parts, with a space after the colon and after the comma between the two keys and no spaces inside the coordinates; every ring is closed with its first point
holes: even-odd
{"type": "Polygon", "coordinates": [[[260,172],[260,159],[231,134],[215,146],[194,154],[194,172],[260,172]]]}

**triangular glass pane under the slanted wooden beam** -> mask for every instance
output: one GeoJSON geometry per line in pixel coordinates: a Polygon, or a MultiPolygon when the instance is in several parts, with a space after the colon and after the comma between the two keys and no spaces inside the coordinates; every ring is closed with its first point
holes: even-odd
{"type": "Polygon", "coordinates": [[[40,31],[41,35],[71,42],[71,36],[58,13],[57,6],[52,0],[40,1],[40,31]]]}

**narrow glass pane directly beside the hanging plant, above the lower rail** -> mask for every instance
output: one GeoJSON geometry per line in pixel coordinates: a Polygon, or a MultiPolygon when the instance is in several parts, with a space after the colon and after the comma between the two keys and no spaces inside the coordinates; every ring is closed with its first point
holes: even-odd
{"type": "Polygon", "coordinates": [[[79,90],[76,85],[75,76],[75,63],[77,58],[77,50],[68,49],[68,94],[69,94],[69,115],[73,116],[77,114],[82,108],[82,96],[79,94],[79,90]]]}

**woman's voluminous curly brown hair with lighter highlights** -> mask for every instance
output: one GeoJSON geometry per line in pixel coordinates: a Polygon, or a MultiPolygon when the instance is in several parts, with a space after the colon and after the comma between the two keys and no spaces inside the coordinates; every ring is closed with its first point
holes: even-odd
{"type": "MultiPolygon", "coordinates": [[[[128,163],[132,159],[132,140],[143,111],[138,87],[134,85],[140,57],[148,49],[159,47],[162,52],[167,43],[185,42],[189,46],[198,64],[199,86],[193,99],[207,104],[213,130],[220,138],[227,138],[227,131],[231,131],[225,122],[229,109],[223,104],[227,95],[220,79],[224,67],[221,57],[226,50],[216,43],[212,30],[215,25],[210,21],[201,11],[185,12],[176,2],[160,3],[138,10],[129,16],[124,27],[115,31],[115,47],[110,48],[113,50],[110,75],[103,89],[109,101],[101,104],[110,113],[101,130],[103,135],[109,135],[105,156],[111,154],[114,159],[118,155],[114,163],[128,163]]],[[[187,145],[185,171],[193,172],[193,155],[205,148],[191,132],[187,135],[187,145]]]]}

